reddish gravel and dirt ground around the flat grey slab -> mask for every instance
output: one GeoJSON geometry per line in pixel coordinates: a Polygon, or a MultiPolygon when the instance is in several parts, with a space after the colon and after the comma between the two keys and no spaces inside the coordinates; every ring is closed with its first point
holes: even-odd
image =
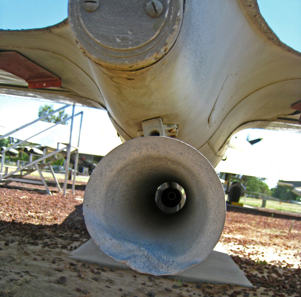
{"type": "Polygon", "coordinates": [[[301,296],[301,217],[227,207],[220,242],[253,288],[184,283],[73,261],[90,236],[75,195],[0,187],[0,296],[301,296]]]}

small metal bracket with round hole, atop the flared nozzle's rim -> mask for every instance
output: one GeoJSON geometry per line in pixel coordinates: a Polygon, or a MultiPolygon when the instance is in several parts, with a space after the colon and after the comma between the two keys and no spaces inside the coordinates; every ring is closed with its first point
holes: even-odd
{"type": "Polygon", "coordinates": [[[142,122],[143,131],[138,131],[138,137],[166,136],[175,138],[178,135],[177,124],[163,124],[161,118],[152,118],[142,122]]]}

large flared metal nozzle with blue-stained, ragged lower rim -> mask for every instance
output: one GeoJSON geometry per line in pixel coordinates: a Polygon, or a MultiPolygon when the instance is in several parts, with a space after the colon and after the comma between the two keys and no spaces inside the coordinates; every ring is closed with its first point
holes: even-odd
{"type": "Polygon", "coordinates": [[[139,137],[96,166],[83,213],[104,253],[142,273],[175,274],[203,261],[219,241],[225,194],[193,147],[169,137],[139,137]]]}

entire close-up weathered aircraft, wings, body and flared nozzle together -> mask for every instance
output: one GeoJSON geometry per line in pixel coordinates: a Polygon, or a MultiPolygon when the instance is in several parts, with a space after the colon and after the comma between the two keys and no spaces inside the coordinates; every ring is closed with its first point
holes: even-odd
{"type": "Polygon", "coordinates": [[[85,221],[138,271],[177,273],[212,251],[225,220],[212,166],[234,133],[301,128],[301,54],[255,0],[71,0],[60,24],[0,31],[0,50],[1,94],[107,110],[126,142],[94,170],[85,221]]]}

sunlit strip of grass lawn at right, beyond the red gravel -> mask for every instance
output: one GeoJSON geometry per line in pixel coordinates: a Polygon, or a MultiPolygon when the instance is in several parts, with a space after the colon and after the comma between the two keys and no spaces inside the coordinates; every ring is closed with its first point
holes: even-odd
{"type": "MultiPolygon", "coordinates": [[[[243,204],[251,205],[251,206],[258,206],[258,207],[262,206],[261,199],[250,198],[250,197],[240,197],[239,203],[243,203],[243,204]]],[[[272,208],[272,209],[278,209],[278,210],[284,210],[284,211],[291,211],[294,213],[301,213],[301,204],[267,200],[265,207],[272,208]]]]}

